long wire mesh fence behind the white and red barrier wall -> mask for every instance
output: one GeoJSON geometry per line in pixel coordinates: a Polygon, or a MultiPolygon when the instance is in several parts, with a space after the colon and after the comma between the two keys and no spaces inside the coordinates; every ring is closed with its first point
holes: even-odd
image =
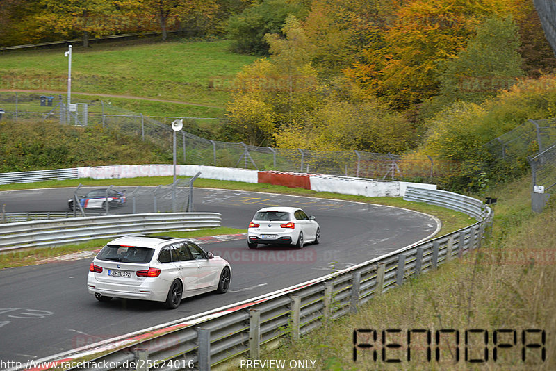
{"type": "MultiPolygon", "coordinates": [[[[104,101],[68,106],[54,97],[52,106],[39,106],[40,94],[0,94],[0,108],[10,119],[40,118],[63,124],[95,126],[135,135],[154,143],[161,151],[173,151],[172,119],[183,119],[184,127],[193,126],[199,117],[147,117],[104,101]],[[40,108],[40,109],[37,109],[40,108]],[[189,126],[188,126],[189,125],[189,126]]],[[[177,133],[177,162],[218,167],[242,167],[356,176],[374,179],[431,181],[458,171],[457,163],[432,156],[414,154],[375,154],[364,151],[311,151],[256,147],[244,143],[201,138],[187,131],[177,133]]]]}

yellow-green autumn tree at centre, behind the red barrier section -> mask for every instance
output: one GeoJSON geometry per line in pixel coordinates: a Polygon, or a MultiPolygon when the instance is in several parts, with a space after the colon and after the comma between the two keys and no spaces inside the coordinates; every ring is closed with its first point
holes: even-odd
{"type": "Polygon", "coordinates": [[[286,36],[265,36],[272,56],[236,76],[227,106],[233,131],[243,133],[250,144],[272,145],[276,131],[302,123],[318,104],[316,71],[308,58],[311,46],[300,21],[288,16],[282,33],[286,36]]]}

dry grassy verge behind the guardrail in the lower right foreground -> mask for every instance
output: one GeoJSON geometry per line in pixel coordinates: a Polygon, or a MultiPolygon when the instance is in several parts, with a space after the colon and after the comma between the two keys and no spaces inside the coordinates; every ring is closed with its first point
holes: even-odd
{"type": "Polygon", "coordinates": [[[373,298],[355,315],[327,322],[300,340],[264,353],[262,361],[281,359],[288,365],[290,360],[313,360],[317,369],[335,371],[556,370],[556,207],[549,205],[540,215],[533,214],[529,189],[530,179],[498,188],[498,195],[505,197],[498,198],[491,236],[473,254],[373,298]],[[373,347],[358,347],[354,361],[356,329],[377,330],[377,341],[357,333],[357,344],[373,347]],[[387,343],[402,347],[381,343],[387,329],[402,330],[387,335],[387,343]],[[430,330],[431,345],[425,336],[413,333],[408,347],[407,331],[412,329],[430,330]],[[459,331],[459,344],[455,332],[443,333],[437,347],[435,331],[441,329],[459,331]],[[466,331],[472,329],[479,332],[468,332],[466,339],[466,331]],[[497,333],[498,345],[506,346],[498,347],[494,356],[498,329],[507,330],[497,333]],[[546,343],[542,345],[541,333],[526,332],[525,344],[541,346],[524,347],[523,333],[529,329],[546,331],[546,343]],[[386,362],[385,354],[401,362],[386,362]],[[486,356],[488,361],[480,362],[486,356]]]}

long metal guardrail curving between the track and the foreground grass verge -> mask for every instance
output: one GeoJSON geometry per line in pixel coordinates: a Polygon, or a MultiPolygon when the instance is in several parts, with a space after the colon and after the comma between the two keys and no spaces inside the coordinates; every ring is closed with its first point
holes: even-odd
{"type": "MultiPolygon", "coordinates": [[[[415,192],[414,189],[410,190],[415,192]]],[[[417,195],[413,197],[418,197],[417,195]]],[[[96,365],[120,365],[124,361],[148,360],[152,365],[163,362],[172,370],[210,370],[241,356],[259,358],[261,346],[274,345],[282,338],[299,336],[334,320],[383,292],[402,285],[409,277],[436,269],[452,258],[461,257],[480,247],[484,229],[491,223],[491,209],[480,201],[445,191],[427,191],[419,196],[430,203],[457,208],[472,217],[483,218],[467,228],[410,245],[371,261],[335,272],[319,279],[300,283],[242,303],[239,310],[219,308],[200,318],[174,322],[171,329],[161,327],[148,340],[117,340],[80,349],[88,356],[95,352],[110,353],[95,358],[96,365]],[[482,204],[481,204],[482,205],[482,204]],[[120,341],[120,343],[118,343],[120,341]],[[106,361],[106,362],[104,362],[106,361]]],[[[238,306],[238,304],[234,304],[238,306]]],[[[136,338],[148,338],[143,334],[136,338]]],[[[79,358],[79,352],[65,359],[79,358]],[[72,358],[73,357],[73,358],[72,358]]],[[[54,359],[49,359],[54,361],[54,359]]],[[[98,370],[113,370],[100,368],[98,370]]],[[[148,370],[148,368],[147,368],[148,370]]]]}

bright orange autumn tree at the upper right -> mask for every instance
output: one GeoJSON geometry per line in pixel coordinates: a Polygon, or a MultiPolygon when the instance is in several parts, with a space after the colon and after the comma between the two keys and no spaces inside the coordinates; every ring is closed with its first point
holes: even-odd
{"type": "Polygon", "coordinates": [[[345,76],[398,109],[437,94],[439,63],[466,46],[484,17],[509,13],[507,0],[398,3],[392,24],[370,42],[345,76]]]}

